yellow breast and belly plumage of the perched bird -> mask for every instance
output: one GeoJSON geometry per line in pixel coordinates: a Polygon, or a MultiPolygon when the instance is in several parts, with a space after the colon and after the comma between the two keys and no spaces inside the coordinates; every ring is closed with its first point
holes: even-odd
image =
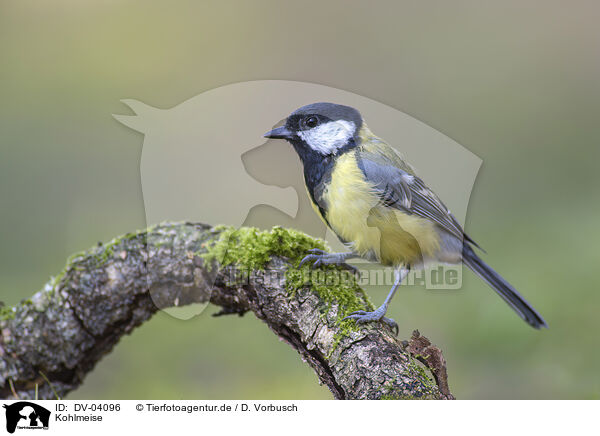
{"type": "Polygon", "coordinates": [[[331,229],[363,257],[384,265],[416,264],[439,248],[431,221],[380,202],[354,153],[338,158],[323,200],[331,229]]]}

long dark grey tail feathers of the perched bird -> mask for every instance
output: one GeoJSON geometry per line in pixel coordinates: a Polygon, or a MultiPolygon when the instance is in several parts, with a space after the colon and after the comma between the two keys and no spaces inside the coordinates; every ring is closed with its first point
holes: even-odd
{"type": "Polygon", "coordinates": [[[527,324],[536,329],[542,327],[548,328],[548,324],[546,324],[544,318],[531,307],[531,304],[529,304],[510,283],[504,280],[500,274],[481,260],[466,243],[463,247],[463,263],[475,274],[485,280],[488,285],[494,288],[498,295],[500,295],[527,324]]]}

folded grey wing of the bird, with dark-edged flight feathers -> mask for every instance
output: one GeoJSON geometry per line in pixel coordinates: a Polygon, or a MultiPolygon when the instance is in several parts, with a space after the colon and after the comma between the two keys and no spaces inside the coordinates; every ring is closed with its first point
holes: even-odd
{"type": "Polygon", "coordinates": [[[370,153],[357,155],[359,167],[376,189],[383,204],[410,215],[427,218],[459,239],[466,236],[454,216],[423,180],[385,158],[370,159],[370,153]]]}

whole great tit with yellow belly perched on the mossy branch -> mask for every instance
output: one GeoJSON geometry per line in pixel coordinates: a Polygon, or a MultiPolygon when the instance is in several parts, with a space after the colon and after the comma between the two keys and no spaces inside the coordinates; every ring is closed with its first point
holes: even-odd
{"type": "Polygon", "coordinates": [[[531,305],[475,253],[479,247],[402,156],[367,127],[354,108],[333,103],[303,106],[265,135],[287,140],[304,166],[315,211],[349,248],[311,250],[300,263],[345,265],[354,257],[395,267],[395,281],[373,312],[346,318],[384,322],[388,305],[411,268],[463,262],[532,327],[547,327],[531,305]]]}

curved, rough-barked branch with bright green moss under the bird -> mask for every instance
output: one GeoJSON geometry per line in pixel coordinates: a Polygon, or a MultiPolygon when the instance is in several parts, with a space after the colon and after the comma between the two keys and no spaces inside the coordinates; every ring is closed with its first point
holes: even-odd
{"type": "Polygon", "coordinates": [[[335,398],[451,398],[443,358],[443,371],[431,368],[438,387],[386,327],[342,321],[372,305],[346,271],[297,269],[316,247],[282,228],[164,223],[76,254],[31,299],[0,308],[0,398],[64,396],[161,308],[208,302],[253,312],[335,398]]]}

